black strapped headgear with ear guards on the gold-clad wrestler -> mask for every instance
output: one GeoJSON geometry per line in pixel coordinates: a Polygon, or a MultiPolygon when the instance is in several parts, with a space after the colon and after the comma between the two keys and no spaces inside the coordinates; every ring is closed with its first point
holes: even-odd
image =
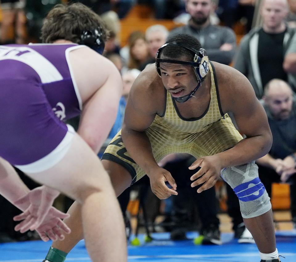
{"type": "Polygon", "coordinates": [[[158,49],[156,53],[155,67],[158,75],[161,77],[160,62],[191,65],[199,83],[204,81],[204,78],[209,71],[209,58],[207,56],[207,52],[203,48],[196,50],[192,47],[187,47],[177,42],[170,42],[170,43],[164,44],[162,47],[158,49]],[[180,61],[180,60],[172,60],[172,59],[161,59],[160,58],[161,51],[164,47],[167,47],[167,46],[180,46],[190,50],[192,53],[195,54],[193,61],[190,62],[190,61],[180,61]]]}

